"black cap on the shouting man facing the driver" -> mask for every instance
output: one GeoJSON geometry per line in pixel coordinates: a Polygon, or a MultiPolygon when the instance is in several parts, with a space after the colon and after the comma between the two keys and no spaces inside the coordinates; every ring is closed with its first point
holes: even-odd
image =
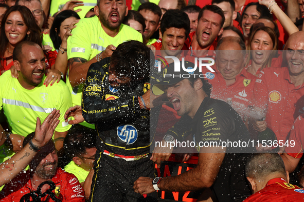
{"type": "Polygon", "coordinates": [[[176,84],[185,78],[201,78],[200,75],[202,74],[202,72],[199,71],[199,67],[196,66],[196,69],[194,71],[191,71],[191,69],[195,68],[195,65],[189,61],[180,62],[180,71],[175,72],[175,68],[178,69],[178,67],[174,67],[174,63],[171,63],[166,66],[166,68],[164,68],[162,81],[152,86],[152,93],[154,95],[164,94],[164,86],[176,84]],[[189,72],[185,71],[183,67],[189,70],[189,72]]]}

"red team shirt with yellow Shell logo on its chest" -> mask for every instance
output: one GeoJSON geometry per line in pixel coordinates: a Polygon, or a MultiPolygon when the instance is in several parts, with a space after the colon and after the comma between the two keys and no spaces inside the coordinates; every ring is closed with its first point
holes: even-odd
{"type": "Polygon", "coordinates": [[[266,111],[267,127],[278,140],[285,140],[295,118],[304,113],[303,87],[291,83],[287,67],[265,68],[256,79],[252,105],[266,111]]]}

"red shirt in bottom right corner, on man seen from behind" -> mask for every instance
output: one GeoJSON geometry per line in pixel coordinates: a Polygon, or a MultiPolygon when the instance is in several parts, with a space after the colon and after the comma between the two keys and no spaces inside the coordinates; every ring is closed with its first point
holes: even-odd
{"type": "Polygon", "coordinates": [[[287,183],[283,178],[274,178],[268,181],[265,188],[249,196],[243,202],[256,201],[303,201],[304,189],[287,183]]]}

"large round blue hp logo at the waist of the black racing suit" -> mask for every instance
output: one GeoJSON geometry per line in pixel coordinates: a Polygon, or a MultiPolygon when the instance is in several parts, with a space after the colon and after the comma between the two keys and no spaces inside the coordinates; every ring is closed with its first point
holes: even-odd
{"type": "Polygon", "coordinates": [[[131,145],[137,140],[137,130],[132,125],[121,125],[117,128],[118,137],[127,145],[131,145]]]}

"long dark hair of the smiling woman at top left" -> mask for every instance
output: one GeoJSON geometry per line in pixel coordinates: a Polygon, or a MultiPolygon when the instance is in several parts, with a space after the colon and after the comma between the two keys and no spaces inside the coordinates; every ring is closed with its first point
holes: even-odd
{"type": "Polygon", "coordinates": [[[4,52],[7,49],[8,46],[8,38],[5,34],[5,22],[12,12],[19,12],[23,18],[24,24],[27,27],[27,31],[30,31],[29,35],[25,35],[24,41],[31,41],[35,44],[38,44],[40,47],[42,47],[42,38],[41,38],[41,29],[36,24],[35,18],[32,14],[32,12],[25,6],[15,5],[10,7],[3,15],[1,24],[3,25],[3,28],[0,32],[0,58],[3,57],[4,52]]]}

